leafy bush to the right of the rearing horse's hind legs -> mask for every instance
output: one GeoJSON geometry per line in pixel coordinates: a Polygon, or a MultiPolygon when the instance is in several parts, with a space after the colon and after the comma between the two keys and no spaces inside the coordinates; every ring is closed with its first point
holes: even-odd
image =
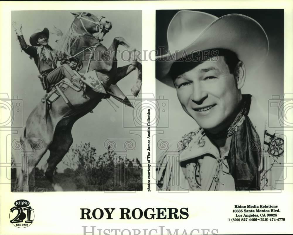
{"type": "Polygon", "coordinates": [[[98,155],[90,143],[81,143],[71,148],[63,163],[70,167],[63,174],[73,177],[79,190],[142,190],[142,165],[138,159],[131,161],[109,150],[98,155]]]}

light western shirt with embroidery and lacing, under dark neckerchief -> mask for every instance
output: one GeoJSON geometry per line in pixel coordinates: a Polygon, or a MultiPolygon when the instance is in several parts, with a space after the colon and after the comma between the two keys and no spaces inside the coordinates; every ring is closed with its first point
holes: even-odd
{"type": "MultiPolygon", "coordinates": [[[[261,107],[251,98],[248,117],[259,133],[260,190],[283,189],[284,137],[282,128],[270,128],[261,107]],[[262,134],[260,134],[262,133],[262,134]]],[[[176,148],[169,147],[157,161],[158,190],[235,190],[226,160],[201,128],[186,134],[176,148]]]]}

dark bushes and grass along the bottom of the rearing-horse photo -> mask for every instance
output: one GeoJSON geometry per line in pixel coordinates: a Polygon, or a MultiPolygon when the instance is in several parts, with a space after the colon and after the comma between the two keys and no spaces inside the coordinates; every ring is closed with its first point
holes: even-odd
{"type": "MultiPolygon", "coordinates": [[[[142,190],[142,165],[138,159],[131,161],[109,150],[98,155],[90,143],[81,143],[69,150],[63,163],[68,168],[63,173],[54,171],[54,177],[64,191],[142,190]]],[[[16,168],[11,168],[11,179],[16,180],[16,168]]],[[[35,167],[30,180],[30,191],[54,191],[43,169],[35,167]]],[[[16,183],[11,183],[11,191],[15,187],[16,183]]]]}

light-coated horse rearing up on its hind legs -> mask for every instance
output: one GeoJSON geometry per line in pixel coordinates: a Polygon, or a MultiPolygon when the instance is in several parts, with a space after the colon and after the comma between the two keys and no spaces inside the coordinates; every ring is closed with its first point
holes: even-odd
{"type": "MultiPolygon", "coordinates": [[[[87,56],[84,56],[85,53],[76,55],[83,64],[79,73],[95,70],[104,84],[116,84],[131,71],[137,70],[138,79],[131,89],[132,93],[137,96],[142,84],[142,65],[133,61],[129,65],[117,68],[116,60],[119,45],[132,53],[134,49],[122,37],[114,38],[108,49],[100,43],[112,26],[112,23],[105,17],[97,18],[86,12],[72,14],[74,21],[68,33],[59,40],[56,49],[73,56],[84,51],[85,48],[94,48],[91,56],[95,59],[91,60],[89,53],[87,56]],[[99,33],[98,37],[94,37],[93,33],[99,33]],[[92,47],[94,45],[96,46],[92,47]],[[90,63],[88,63],[89,60],[90,63]]],[[[75,91],[68,87],[64,91],[64,95],[69,103],[66,104],[61,97],[58,98],[52,103],[46,119],[44,119],[45,105],[40,102],[30,113],[18,143],[14,143],[21,146],[21,149],[13,147],[12,143],[11,151],[14,163],[21,165],[21,167],[16,167],[18,184],[15,190],[29,191],[30,174],[48,149],[50,156],[47,160],[45,176],[55,191],[62,190],[61,186],[55,182],[53,172],[73,142],[71,128],[76,120],[89,113],[103,98],[106,98],[105,94],[93,91],[89,87],[85,92],[75,91]],[[16,152],[17,150],[18,152],[16,152]]]]}

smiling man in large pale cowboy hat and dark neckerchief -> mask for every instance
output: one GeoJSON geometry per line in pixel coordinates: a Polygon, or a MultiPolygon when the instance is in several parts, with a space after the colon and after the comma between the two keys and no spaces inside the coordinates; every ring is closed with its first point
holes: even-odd
{"type": "MultiPolygon", "coordinates": [[[[157,17],[164,14],[168,11],[157,17]]],[[[241,92],[250,79],[247,71],[260,70],[267,59],[264,28],[244,14],[178,11],[168,25],[167,45],[165,51],[159,48],[156,78],[176,89],[195,123],[175,147],[168,139],[163,154],[157,154],[158,190],[281,190],[282,128],[270,128],[265,107],[241,92]]]]}

